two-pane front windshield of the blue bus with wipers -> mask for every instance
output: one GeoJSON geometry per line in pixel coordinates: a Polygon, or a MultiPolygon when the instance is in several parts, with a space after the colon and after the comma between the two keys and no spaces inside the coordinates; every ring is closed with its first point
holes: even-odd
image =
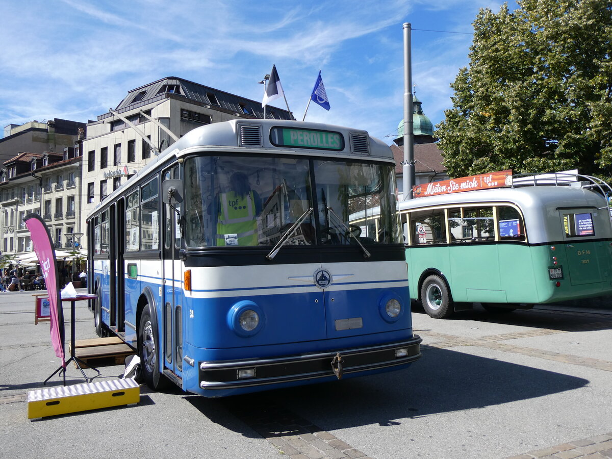
{"type": "MultiPolygon", "coordinates": [[[[315,212],[285,245],[355,244],[349,214],[379,205],[384,215],[394,214],[392,171],[391,165],[288,157],[190,157],[185,160],[185,244],[274,246],[308,209],[315,212]]],[[[398,242],[394,219],[382,226],[385,236],[377,241],[398,242]]]]}

